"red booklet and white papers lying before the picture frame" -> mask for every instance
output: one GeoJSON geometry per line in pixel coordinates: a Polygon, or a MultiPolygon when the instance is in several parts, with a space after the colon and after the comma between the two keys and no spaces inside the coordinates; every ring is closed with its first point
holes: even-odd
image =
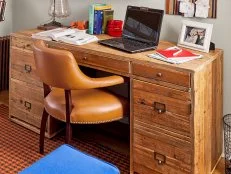
{"type": "Polygon", "coordinates": [[[174,46],[165,50],[156,50],[156,53],[149,54],[148,57],[168,63],[180,64],[191,60],[200,59],[202,58],[202,55],[195,54],[191,51],[174,46]]]}

